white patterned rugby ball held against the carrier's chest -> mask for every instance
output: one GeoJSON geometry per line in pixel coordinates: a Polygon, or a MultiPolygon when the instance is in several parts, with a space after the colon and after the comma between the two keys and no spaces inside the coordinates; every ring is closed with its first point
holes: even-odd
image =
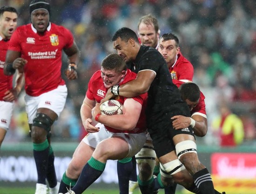
{"type": "Polygon", "coordinates": [[[108,100],[101,104],[101,115],[121,115],[123,105],[117,100],[108,100]]]}

